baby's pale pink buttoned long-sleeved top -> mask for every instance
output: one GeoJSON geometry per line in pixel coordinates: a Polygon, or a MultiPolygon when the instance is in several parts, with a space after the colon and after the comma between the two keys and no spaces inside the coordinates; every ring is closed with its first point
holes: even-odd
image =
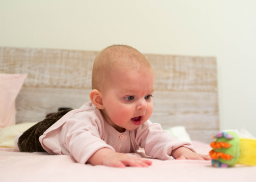
{"type": "Polygon", "coordinates": [[[195,151],[190,143],[177,140],[163,131],[160,124],[150,120],[134,131],[126,129],[119,133],[105,121],[91,101],[59,119],[39,137],[39,141],[48,153],[72,155],[81,164],[101,148],[131,153],[141,147],[146,155],[160,160],[173,160],[170,154],[180,146],[195,151]]]}

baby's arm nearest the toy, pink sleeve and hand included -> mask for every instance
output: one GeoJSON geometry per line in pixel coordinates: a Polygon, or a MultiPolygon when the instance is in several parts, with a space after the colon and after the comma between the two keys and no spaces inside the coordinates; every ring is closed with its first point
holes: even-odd
{"type": "Polygon", "coordinates": [[[160,124],[152,123],[150,120],[137,129],[135,136],[136,145],[144,148],[146,155],[152,156],[153,159],[211,160],[209,155],[196,153],[191,143],[177,140],[163,131],[160,124]]]}

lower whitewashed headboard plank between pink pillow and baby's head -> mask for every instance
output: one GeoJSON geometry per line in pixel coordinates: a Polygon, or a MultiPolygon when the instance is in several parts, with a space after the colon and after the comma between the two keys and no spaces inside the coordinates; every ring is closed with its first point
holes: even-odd
{"type": "Polygon", "coordinates": [[[17,123],[42,121],[58,108],[80,108],[90,101],[90,92],[89,89],[22,88],[16,98],[17,123]]]}

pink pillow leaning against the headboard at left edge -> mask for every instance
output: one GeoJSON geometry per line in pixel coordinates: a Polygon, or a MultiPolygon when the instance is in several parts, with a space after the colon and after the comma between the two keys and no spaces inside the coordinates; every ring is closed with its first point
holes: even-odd
{"type": "Polygon", "coordinates": [[[15,124],[15,98],[27,74],[0,74],[0,131],[15,124]]]}

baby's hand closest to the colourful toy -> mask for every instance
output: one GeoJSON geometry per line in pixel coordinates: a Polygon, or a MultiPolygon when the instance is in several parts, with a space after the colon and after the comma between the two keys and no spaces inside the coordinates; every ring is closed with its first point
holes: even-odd
{"type": "Polygon", "coordinates": [[[186,147],[179,147],[172,151],[175,159],[211,160],[209,155],[195,153],[186,147]]]}

